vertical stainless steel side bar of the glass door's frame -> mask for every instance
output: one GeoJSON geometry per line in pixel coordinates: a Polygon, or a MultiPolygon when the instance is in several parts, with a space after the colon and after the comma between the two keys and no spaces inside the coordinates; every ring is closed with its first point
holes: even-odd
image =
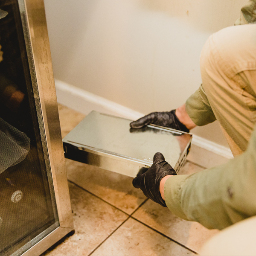
{"type": "MultiPolygon", "coordinates": [[[[60,227],[73,229],[43,0],[24,0],[60,227]]],[[[42,240],[43,241],[43,240],[42,240]]]]}

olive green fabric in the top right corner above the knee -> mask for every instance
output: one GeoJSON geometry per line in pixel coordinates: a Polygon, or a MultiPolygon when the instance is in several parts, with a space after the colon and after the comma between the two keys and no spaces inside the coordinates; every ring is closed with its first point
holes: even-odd
{"type": "Polygon", "coordinates": [[[256,23],[256,0],[250,0],[242,7],[240,18],[236,20],[235,25],[248,23],[256,23]]]}

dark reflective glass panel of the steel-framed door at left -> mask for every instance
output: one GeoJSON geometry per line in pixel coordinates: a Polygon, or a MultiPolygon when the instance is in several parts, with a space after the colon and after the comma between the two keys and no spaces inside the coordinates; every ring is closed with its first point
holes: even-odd
{"type": "Polygon", "coordinates": [[[0,47],[0,255],[10,255],[58,217],[16,0],[0,1],[0,47]]]}

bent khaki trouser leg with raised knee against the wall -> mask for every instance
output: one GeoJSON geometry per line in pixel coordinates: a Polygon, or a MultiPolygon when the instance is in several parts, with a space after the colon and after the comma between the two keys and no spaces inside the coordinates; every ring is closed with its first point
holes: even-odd
{"type": "Polygon", "coordinates": [[[201,52],[203,89],[233,155],[247,148],[256,123],[256,24],[209,37],[201,52]]]}

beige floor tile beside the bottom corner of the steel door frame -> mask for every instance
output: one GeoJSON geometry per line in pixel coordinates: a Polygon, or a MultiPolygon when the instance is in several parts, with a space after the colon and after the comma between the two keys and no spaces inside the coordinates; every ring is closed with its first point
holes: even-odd
{"type": "Polygon", "coordinates": [[[76,233],[44,256],[86,256],[104,241],[128,215],[69,183],[76,233]]]}

